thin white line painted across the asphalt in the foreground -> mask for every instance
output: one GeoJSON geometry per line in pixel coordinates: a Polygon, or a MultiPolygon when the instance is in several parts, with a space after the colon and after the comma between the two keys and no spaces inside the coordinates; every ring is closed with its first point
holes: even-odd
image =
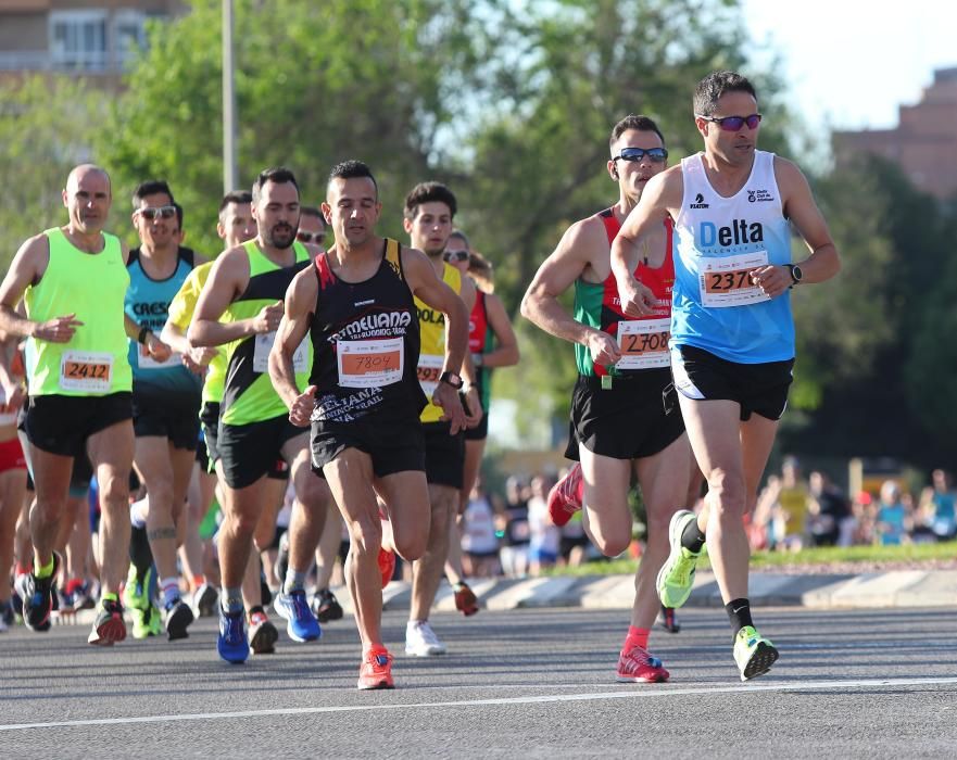
{"type": "Polygon", "coordinates": [[[212,721],[235,718],[265,718],[269,715],[304,715],[329,712],[367,712],[370,710],[436,709],[442,707],[495,707],[501,705],[532,705],[538,702],[596,701],[602,699],[657,699],[703,694],[745,694],[748,692],[813,692],[842,688],[885,688],[887,686],[947,686],[957,684],[957,677],[942,679],[859,679],[848,681],[803,681],[799,683],[750,683],[733,686],[703,686],[668,688],[642,686],[640,691],[600,692],[593,694],[546,694],[527,697],[500,697],[498,699],[463,699],[445,702],[410,702],[402,705],[341,705],[336,707],[292,707],[276,710],[242,710],[240,712],[197,712],[180,715],[140,715],[131,718],[98,718],[80,721],[55,721],[50,723],[14,723],[0,725],[2,731],[28,731],[33,729],[62,729],[88,725],[127,725],[133,723],[174,723],[181,721],[212,721]],[[654,691],[652,691],[654,688],[654,691]],[[649,691],[645,691],[649,689],[649,691]]]}

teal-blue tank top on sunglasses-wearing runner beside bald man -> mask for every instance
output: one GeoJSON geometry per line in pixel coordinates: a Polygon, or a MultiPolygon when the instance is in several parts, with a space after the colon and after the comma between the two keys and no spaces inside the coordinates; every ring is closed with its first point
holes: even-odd
{"type": "MultiPolygon", "coordinates": [[[[129,270],[129,289],[124,303],[126,314],[140,328],[147,327],[159,337],[166,324],[169,302],[192,270],[193,252],[188,248],[180,248],[176,268],[165,280],[154,280],[143,270],[139,249],[129,252],[126,267],[129,270]]],[[[136,339],[129,339],[128,356],[133,368],[134,393],[158,390],[191,394],[202,390],[202,378],[182,365],[179,354],[173,354],[166,362],[158,363],[136,339]]]]}

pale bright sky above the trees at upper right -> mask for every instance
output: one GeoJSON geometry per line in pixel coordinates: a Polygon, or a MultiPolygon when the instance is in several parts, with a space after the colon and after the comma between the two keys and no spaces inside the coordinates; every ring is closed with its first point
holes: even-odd
{"type": "Polygon", "coordinates": [[[935,68],[957,66],[957,3],[743,0],[752,38],[781,54],[805,123],[882,129],[935,68]]]}

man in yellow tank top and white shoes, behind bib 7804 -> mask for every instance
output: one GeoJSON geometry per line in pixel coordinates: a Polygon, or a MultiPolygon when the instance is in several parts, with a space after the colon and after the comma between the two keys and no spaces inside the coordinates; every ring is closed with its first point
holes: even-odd
{"type": "MultiPolygon", "coordinates": [[[[452,219],[457,203],[449,188],[439,182],[423,182],[414,187],[405,198],[404,226],[412,246],[428,255],[436,275],[458,293],[471,313],[475,305],[475,286],[463,278],[455,267],[442,261],[442,252],[452,233],[452,219]]],[[[428,398],[432,397],[442,371],[445,352],[445,318],[428,305],[416,300],[421,352],[418,360],[419,384],[428,398]]],[[[467,425],[475,427],[481,421],[482,409],[476,388],[475,366],[466,354],[462,372],[467,385],[467,425]]],[[[440,421],[442,410],[429,404],[421,415],[426,436],[426,480],[429,483],[429,502],[432,520],[429,524],[429,544],[426,554],[412,565],[412,604],[405,631],[406,654],[430,657],[445,651],[429,624],[429,610],[442,579],[449,556],[449,536],[452,522],[458,512],[458,491],[465,468],[465,434],[450,434],[448,422],[440,421]]],[[[458,579],[461,582],[462,579],[458,579]]]]}

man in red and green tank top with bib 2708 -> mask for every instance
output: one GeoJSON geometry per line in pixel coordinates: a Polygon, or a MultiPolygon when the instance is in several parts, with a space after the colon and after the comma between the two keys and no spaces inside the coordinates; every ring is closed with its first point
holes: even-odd
{"type": "Polygon", "coordinates": [[[668,370],[670,227],[658,224],[658,238],[650,243],[639,267],[654,279],[660,302],[649,319],[628,319],[621,313],[609,250],[645,186],[665,170],[668,151],[655,123],[633,114],[615,125],[609,142],[607,170],[618,185],[618,202],[568,228],[536,274],[521,313],[576,349],[579,377],[566,456],[581,464],[549,494],[553,522],[564,525],[583,504],[585,532],[603,554],[615,557],[631,543],[632,472],[641,483],[647,548],[635,577],[631,624],[616,677],[622,683],[654,683],[669,676],[662,661],[647,651],[658,612],[654,574],[668,556],[668,521],[683,505],[691,459],[668,370]],[[572,286],[575,317],[558,302],[572,286]]]}

